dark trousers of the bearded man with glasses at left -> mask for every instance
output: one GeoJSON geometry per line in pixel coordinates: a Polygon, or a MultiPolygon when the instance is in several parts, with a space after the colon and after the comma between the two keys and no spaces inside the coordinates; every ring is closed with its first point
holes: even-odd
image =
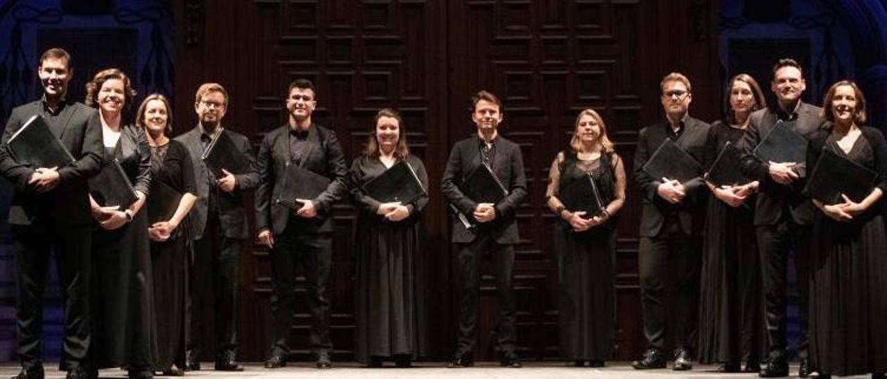
{"type": "Polygon", "coordinates": [[[208,289],[214,297],[216,358],[237,352],[237,265],[243,240],[224,235],[218,214],[207,217],[203,236],[194,241],[194,257],[188,270],[185,300],[185,349],[200,357],[201,315],[206,309],[208,289]]]}

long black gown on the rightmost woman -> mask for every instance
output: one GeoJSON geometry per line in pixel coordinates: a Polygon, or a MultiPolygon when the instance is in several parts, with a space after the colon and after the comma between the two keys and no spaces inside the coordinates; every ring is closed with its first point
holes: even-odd
{"type": "MultiPolygon", "coordinates": [[[[826,132],[823,132],[825,135],[826,132]]],[[[829,149],[878,173],[875,185],[887,195],[887,144],[875,128],[849,153],[833,135],[812,140],[807,161],[829,149]]],[[[887,372],[887,236],[884,199],[850,222],[817,212],[813,221],[810,277],[810,359],[820,374],[887,372]]]]}

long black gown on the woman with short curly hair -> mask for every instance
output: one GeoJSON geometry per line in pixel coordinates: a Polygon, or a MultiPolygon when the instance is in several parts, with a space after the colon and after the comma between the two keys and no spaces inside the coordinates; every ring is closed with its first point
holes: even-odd
{"type": "MultiPolygon", "coordinates": [[[[136,190],[147,194],[151,185],[150,155],[145,130],[129,125],[122,128],[114,148],[106,147],[105,162],[119,159],[136,190]]],[[[147,228],[144,206],[121,228],[94,228],[90,293],[90,365],[94,368],[147,369],[156,359],[147,228]]]]}

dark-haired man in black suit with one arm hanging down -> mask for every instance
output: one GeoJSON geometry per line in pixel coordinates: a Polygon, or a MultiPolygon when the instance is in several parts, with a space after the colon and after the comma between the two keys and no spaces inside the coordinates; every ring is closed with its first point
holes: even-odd
{"type": "MultiPolygon", "coordinates": [[[[255,191],[255,228],[260,244],[271,248],[271,279],[274,292],[275,341],[265,367],[287,365],[288,336],[295,313],[295,269],[302,265],[313,322],[311,349],[318,368],[333,367],[330,352],[330,303],[326,280],[333,260],[333,205],[347,192],[348,166],[339,139],[331,129],[311,121],[317,106],[311,81],[298,79],[289,85],[289,121],[265,135],[259,149],[259,188],[255,191]],[[294,207],[278,201],[287,169],[297,166],[329,179],[329,184],[313,198],[298,198],[294,207]]],[[[287,186],[288,187],[288,186],[287,186]]]]}

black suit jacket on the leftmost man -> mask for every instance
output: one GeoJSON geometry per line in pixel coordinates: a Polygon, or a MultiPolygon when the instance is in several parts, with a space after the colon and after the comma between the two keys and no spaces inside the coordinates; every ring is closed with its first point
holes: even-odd
{"type": "Polygon", "coordinates": [[[102,126],[98,112],[86,105],[70,102],[60,113],[67,117],[67,121],[58,127],[50,126],[52,133],[59,137],[77,160],[74,164],[59,167],[61,182],[58,187],[43,194],[27,184],[34,169],[16,162],[6,145],[9,138],[35,114],[43,114],[42,100],[14,108],[6,122],[3,141],[0,142],[0,174],[15,187],[9,223],[30,225],[36,220],[51,220],[70,225],[89,224],[92,216],[87,181],[98,174],[102,160],[102,126]]]}

